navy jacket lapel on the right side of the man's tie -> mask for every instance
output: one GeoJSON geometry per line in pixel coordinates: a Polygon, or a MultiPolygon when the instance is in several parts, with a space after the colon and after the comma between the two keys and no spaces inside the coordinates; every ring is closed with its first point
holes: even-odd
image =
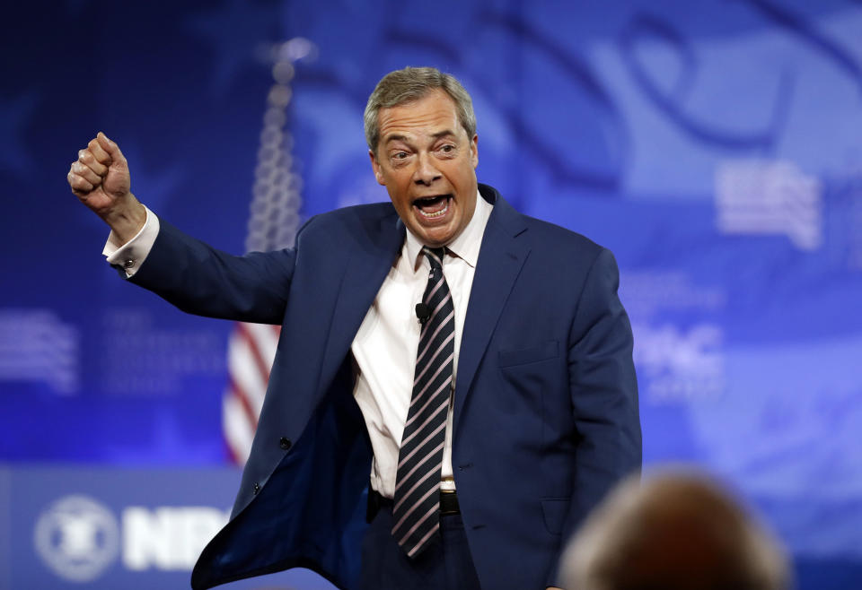
{"type": "Polygon", "coordinates": [[[484,185],[479,185],[479,188],[483,195],[493,191],[496,203],[488,218],[485,235],[482,237],[467,317],[464,320],[455,385],[455,428],[457,428],[464,401],[469,395],[473,378],[476,377],[476,370],[488,348],[491,334],[497,327],[506,299],[515,286],[515,280],[521,272],[524,261],[530,254],[527,240],[517,239],[526,230],[523,216],[506,203],[494,189],[484,185]]]}

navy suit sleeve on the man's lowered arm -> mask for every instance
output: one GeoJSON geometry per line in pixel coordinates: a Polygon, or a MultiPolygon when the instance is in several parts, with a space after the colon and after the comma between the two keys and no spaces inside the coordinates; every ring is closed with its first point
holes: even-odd
{"type": "MultiPolygon", "coordinates": [[[[569,333],[568,379],[576,425],[572,502],[565,542],[611,488],[641,467],[638,382],[631,325],[620,303],[620,273],[609,250],[596,256],[569,333]]],[[[556,572],[549,585],[557,583],[556,572]]]]}

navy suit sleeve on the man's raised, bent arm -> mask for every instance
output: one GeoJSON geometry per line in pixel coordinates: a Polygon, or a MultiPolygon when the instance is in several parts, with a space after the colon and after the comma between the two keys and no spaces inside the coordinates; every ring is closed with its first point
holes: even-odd
{"type": "Polygon", "coordinates": [[[161,221],[153,249],[129,282],[198,316],[281,324],[295,262],[294,248],[232,256],[161,221]]]}

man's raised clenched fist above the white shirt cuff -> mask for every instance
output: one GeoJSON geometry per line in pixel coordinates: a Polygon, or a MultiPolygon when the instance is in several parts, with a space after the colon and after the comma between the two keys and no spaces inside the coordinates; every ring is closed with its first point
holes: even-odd
{"type": "Polygon", "coordinates": [[[146,211],[131,193],[126,157],[101,131],[78,152],[67,179],[75,196],[110,226],[121,243],[144,227],[146,211]]]}

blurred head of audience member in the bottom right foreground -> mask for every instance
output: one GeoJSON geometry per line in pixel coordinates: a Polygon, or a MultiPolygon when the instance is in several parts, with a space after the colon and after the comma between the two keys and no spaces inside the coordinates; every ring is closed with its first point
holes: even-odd
{"type": "Polygon", "coordinates": [[[665,471],[622,482],[562,560],[567,590],[786,590],[775,538],[718,482],[665,471]]]}

